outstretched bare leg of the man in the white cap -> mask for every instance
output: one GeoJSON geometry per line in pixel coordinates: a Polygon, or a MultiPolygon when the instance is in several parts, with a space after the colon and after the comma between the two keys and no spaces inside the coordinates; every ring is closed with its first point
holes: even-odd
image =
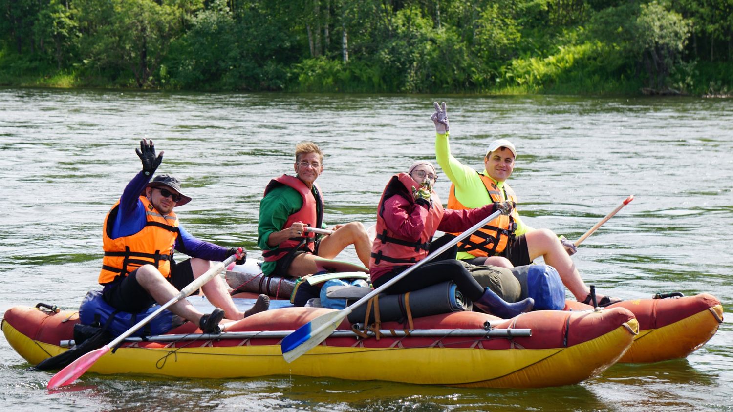
{"type": "MultiPolygon", "coordinates": [[[[526,233],[524,236],[527,239],[529,258],[534,260],[538,256],[543,256],[545,263],[557,270],[563,284],[575,296],[575,299],[578,301],[585,300],[591,292],[590,288],[583,282],[578,269],[575,269],[575,263],[567,255],[555,233],[549,229],[537,229],[526,233]]],[[[598,299],[602,297],[603,295],[600,295],[598,299]]]]}

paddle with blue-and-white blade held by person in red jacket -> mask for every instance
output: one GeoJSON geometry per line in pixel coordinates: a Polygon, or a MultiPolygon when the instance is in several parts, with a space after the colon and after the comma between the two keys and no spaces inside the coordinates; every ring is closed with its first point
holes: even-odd
{"type": "Polygon", "coordinates": [[[333,333],[334,330],[336,330],[336,328],[339,326],[339,323],[341,323],[341,321],[343,321],[355,307],[358,307],[360,304],[369,301],[369,299],[372,299],[382,291],[385,291],[391,285],[394,285],[395,282],[399,281],[403,277],[418,269],[420,266],[429,262],[430,260],[432,260],[432,258],[435,258],[435,256],[438,256],[446,250],[449,250],[451,247],[454,246],[454,244],[457,244],[459,241],[462,241],[466,237],[470,236],[471,233],[479,230],[491,220],[496,219],[499,214],[501,214],[501,211],[495,211],[489,217],[485,218],[481,222],[476,223],[476,225],[472,226],[470,229],[468,229],[468,231],[461,233],[448,243],[443,244],[443,246],[439,247],[438,250],[435,250],[435,252],[430,253],[430,255],[427,255],[423,260],[415,263],[413,266],[410,266],[407,270],[391,278],[384,285],[376,288],[374,291],[365,295],[363,298],[359,299],[353,304],[350,304],[345,309],[339,310],[338,312],[331,312],[325,315],[321,315],[318,318],[310,321],[309,323],[301,326],[300,328],[295,330],[295,332],[292,332],[292,334],[287,335],[287,337],[285,337],[280,344],[282,356],[285,358],[285,361],[290,363],[295,359],[301,357],[303,353],[310,351],[312,348],[314,348],[314,346],[318,345],[320,342],[323,342],[325,338],[330,336],[331,333],[333,333]]]}

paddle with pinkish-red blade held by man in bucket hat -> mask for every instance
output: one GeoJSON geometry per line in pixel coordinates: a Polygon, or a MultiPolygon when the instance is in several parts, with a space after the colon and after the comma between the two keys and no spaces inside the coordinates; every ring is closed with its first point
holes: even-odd
{"type": "Polygon", "coordinates": [[[64,369],[59,370],[59,372],[56,373],[53,378],[51,378],[51,381],[48,381],[48,385],[46,387],[48,389],[56,389],[59,386],[68,385],[69,383],[75,381],[76,378],[78,378],[79,376],[84,375],[84,372],[86,372],[86,370],[89,370],[89,368],[92,367],[92,364],[97,362],[97,359],[100,359],[107,352],[111,351],[111,348],[119,345],[120,342],[127,339],[127,337],[129,337],[131,334],[135,333],[138,329],[145,326],[146,323],[150,322],[152,318],[155,318],[155,316],[160,315],[163,310],[171,307],[172,304],[180,301],[180,299],[185,298],[191,293],[194,293],[196,289],[201,288],[203,285],[206,284],[206,282],[212,280],[214,277],[216,277],[217,274],[220,274],[221,271],[223,271],[224,268],[229,265],[229,263],[232,263],[236,260],[237,255],[231,255],[229,256],[229,258],[226,258],[226,261],[216,263],[216,265],[214,265],[211,269],[207,270],[204,274],[197,277],[193,282],[189,283],[185,288],[181,289],[181,291],[176,296],[174,296],[173,299],[167,301],[165,304],[163,304],[163,306],[159,307],[158,310],[155,310],[155,312],[147,315],[146,318],[136,323],[135,326],[128,329],[127,332],[119,335],[117,338],[115,338],[115,340],[109,342],[103,347],[96,349],[95,351],[85,353],[74,362],[68,364],[67,367],[65,367],[64,369]]]}

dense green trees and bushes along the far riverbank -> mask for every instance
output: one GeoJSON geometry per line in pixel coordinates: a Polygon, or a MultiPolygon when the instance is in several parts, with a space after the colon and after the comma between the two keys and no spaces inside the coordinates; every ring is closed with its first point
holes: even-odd
{"type": "Polygon", "coordinates": [[[0,84],[729,94],[731,0],[0,0],[0,84]]]}

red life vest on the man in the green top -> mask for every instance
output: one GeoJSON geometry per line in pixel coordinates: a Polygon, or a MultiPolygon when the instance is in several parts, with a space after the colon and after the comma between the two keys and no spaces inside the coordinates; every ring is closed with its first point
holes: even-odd
{"type": "MultiPolygon", "coordinates": [[[[316,189],[316,196],[314,196],[313,192],[305,183],[303,183],[303,181],[301,181],[301,179],[284,174],[277,179],[270,180],[268,187],[265,187],[265,196],[267,196],[268,192],[273,190],[274,187],[278,187],[283,184],[287,187],[292,187],[301,194],[301,198],[303,198],[303,207],[288,216],[287,221],[280,230],[290,228],[290,226],[295,222],[303,222],[313,228],[320,228],[321,223],[323,222],[323,196],[320,193],[318,185],[315,183],[313,184],[313,187],[316,189]]],[[[313,253],[315,240],[315,233],[303,232],[303,236],[292,237],[282,241],[273,250],[265,250],[265,252],[262,252],[262,258],[264,258],[265,261],[273,262],[278,261],[290,252],[298,250],[313,253]]]]}

